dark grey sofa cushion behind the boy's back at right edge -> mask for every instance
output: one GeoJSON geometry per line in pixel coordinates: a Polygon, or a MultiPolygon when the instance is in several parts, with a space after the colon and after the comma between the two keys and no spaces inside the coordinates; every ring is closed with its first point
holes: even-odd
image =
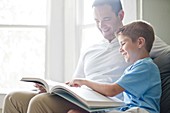
{"type": "Polygon", "coordinates": [[[161,112],[170,113],[170,48],[154,58],[153,61],[157,64],[161,74],[162,96],[161,96],[161,112]]]}

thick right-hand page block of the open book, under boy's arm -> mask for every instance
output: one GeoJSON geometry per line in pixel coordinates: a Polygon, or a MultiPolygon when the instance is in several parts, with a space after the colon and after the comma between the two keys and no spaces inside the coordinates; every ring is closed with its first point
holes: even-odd
{"type": "Polygon", "coordinates": [[[64,91],[65,93],[67,92],[69,95],[74,96],[89,108],[113,107],[113,106],[123,105],[123,102],[119,99],[113,100],[91,89],[81,88],[81,87],[70,87],[65,84],[54,86],[51,90],[51,93],[57,94],[60,93],[62,90],[65,90],[64,91]]]}

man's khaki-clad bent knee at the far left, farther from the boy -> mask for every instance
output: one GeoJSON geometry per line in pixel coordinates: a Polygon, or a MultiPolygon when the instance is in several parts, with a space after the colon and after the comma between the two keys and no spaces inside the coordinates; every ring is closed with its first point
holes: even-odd
{"type": "Polygon", "coordinates": [[[26,113],[29,101],[35,95],[31,92],[12,92],[6,95],[2,113],[26,113]]]}

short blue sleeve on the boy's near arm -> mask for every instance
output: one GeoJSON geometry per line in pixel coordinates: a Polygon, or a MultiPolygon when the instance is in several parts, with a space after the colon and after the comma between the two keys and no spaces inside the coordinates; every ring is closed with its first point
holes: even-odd
{"type": "Polygon", "coordinates": [[[125,92],[140,97],[149,87],[149,70],[147,64],[136,64],[125,70],[124,75],[116,83],[123,87],[125,92]]]}

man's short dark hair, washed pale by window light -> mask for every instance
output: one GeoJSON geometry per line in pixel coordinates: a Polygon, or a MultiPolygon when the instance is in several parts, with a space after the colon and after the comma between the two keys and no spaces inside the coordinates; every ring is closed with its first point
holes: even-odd
{"type": "Polygon", "coordinates": [[[110,5],[112,10],[118,16],[119,11],[122,10],[122,4],[120,0],[94,0],[92,7],[100,6],[100,5],[110,5]]]}

